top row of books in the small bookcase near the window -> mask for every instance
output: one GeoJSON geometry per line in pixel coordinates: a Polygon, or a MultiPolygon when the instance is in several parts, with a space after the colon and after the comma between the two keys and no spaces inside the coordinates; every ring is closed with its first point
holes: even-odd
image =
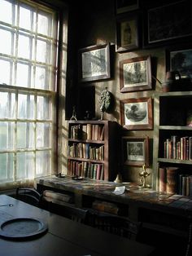
{"type": "Polygon", "coordinates": [[[100,124],[86,124],[71,126],[70,139],[91,139],[103,140],[104,139],[104,126],[100,124]]]}

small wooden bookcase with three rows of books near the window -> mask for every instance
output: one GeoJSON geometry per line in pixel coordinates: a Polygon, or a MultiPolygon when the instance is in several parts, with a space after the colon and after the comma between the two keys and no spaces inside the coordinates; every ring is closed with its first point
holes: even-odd
{"type": "Polygon", "coordinates": [[[112,181],[118,172],[116,121],[68,121],[68,174],[112,181]]]}

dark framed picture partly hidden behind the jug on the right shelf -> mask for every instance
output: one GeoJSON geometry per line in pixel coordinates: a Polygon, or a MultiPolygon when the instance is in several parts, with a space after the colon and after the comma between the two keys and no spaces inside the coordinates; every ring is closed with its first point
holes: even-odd
{"type": "Polygon", "coordinates": [[[167,50],[166,70],[178,71],[181,78],[188,78],[192,82],[192,49],[167,50]]]}

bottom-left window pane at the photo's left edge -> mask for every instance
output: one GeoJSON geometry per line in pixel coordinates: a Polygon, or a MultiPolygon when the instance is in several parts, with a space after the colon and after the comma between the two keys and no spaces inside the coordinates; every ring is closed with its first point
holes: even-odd
{"type": "Polygon", "coordinates": [[[13,179],[13,153],[0,153],[0,180],[11,181],[13,179]]]}

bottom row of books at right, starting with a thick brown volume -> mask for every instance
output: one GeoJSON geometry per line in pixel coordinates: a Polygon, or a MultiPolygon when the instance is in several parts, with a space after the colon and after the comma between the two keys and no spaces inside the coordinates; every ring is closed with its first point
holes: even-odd
{"type": "Polygon", "coordinates": [[[160,167],[159,192],[192,196],[192,175],[182,173],[178,167],[160,167]]]}

